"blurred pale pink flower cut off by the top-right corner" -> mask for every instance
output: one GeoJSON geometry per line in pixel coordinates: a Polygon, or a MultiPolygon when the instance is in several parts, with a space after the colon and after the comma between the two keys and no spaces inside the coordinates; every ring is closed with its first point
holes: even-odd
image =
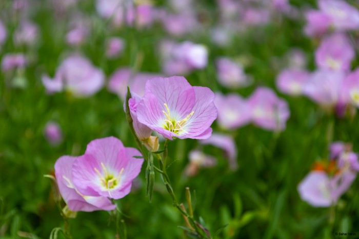
{"type": "Polygon", "coordinates": [[[342,0],[319,0],[319,8],[330,17],[336,30],[355,30],[359,27],[359,11],[342,0]]]}

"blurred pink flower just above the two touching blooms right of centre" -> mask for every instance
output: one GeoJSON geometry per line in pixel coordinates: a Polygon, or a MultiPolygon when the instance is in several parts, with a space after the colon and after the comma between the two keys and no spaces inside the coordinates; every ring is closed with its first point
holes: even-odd
{"type": "Polygon", "coordinates": [[[216,67],[217,77],[221,85],[236,89],[250,84],[241,64],[222,57],[217,59],[216,67]]]}

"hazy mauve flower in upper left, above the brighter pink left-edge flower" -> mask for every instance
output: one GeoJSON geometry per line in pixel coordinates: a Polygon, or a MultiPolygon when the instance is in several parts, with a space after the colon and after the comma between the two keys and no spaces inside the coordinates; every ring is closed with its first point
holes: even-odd
{"type": "Polygon", "coordinates": [[[14,33],[14,43],[16,45],[33,45],[38,38],[38,27],[29,22],[23,21],[14,33]]]}

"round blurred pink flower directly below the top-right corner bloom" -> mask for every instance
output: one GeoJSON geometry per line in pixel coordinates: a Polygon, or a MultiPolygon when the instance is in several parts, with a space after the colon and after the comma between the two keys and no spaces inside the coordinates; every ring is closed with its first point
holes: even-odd
{"type": "Polygon", "coordinates": [[[355,56],[354,48],[344,33],[335,33],[326,38],[315,51],[315,62],[325,70],[350,69],[350,63],[355,56]]]}

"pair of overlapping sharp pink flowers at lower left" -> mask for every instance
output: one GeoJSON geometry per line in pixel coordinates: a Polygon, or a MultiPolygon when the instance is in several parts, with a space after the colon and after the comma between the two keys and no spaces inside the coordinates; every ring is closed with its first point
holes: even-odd
{"type": "Polygon", "coordinates": [[[115,137],[91,141],[81,156],[62,156],[55,163],[58,189],[71,211],[113,210],[109,200],[130,193],[144,160],[137,149],[115,137]]]}

